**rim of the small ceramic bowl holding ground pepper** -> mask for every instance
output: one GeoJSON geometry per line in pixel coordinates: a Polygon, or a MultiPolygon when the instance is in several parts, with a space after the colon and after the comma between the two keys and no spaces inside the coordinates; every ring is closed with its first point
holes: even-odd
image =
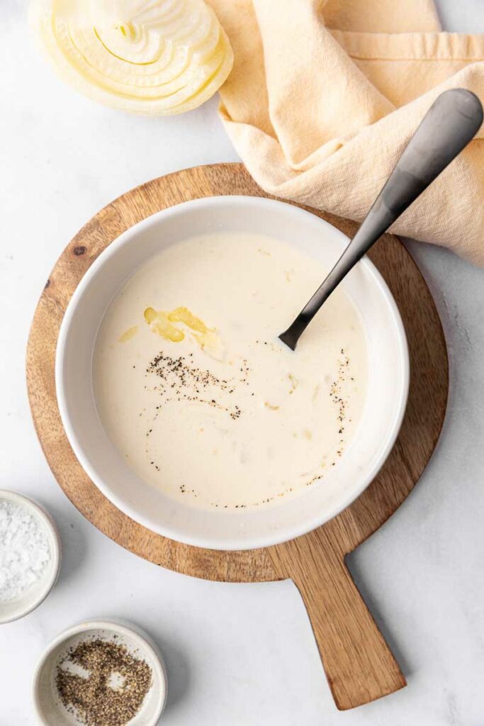
{"type": "Polygon", "coordinates": [[[141,629],[138,625],[118,619],[83,620],[80,623],[76,623],[66,628],[65,630],[62,630],[62,632],[54,637],[54,640],[52,640],[49,645],[47,645],[41,657],[38,659],[38,663],[36,665],[36,669],[33,673],[32,679],[31,696],[33,702],[33,709],[35,711],[38,722],[43,726],[53,726],[52,722],[48,722],[46,721],[46,719],[44,719],[38,703],[40,679],[47,658],[49,658],[54,650],[62,645],[62,643],[67,643],[67,640],[69,640],[71,637],[75,635],[81,635],[82,633],[88,633],[90,630],[107,630],[108,632],[115,633],[116,635],[124,635],[125,637],[128,637],[136,642],[141,653],[149,653],[150,665],[152,664],[153,668],[156,669],[157,676],[159,677],[160,682],[163,683],[164,691],[161,698],[160,696],[158,696],[158,703],[156,706],[154,717],[149,721],[145,722],[143,726],[156,726],[161,714],[163,714],[163,711],[165,710],[166,701],[168,698],[168,678],[166,675],[165,661],[163,660],[163,656],[155,641],[152,640],[152,637],[150,637],[148,633],[144,632],[144,630],[141,629]]]}

